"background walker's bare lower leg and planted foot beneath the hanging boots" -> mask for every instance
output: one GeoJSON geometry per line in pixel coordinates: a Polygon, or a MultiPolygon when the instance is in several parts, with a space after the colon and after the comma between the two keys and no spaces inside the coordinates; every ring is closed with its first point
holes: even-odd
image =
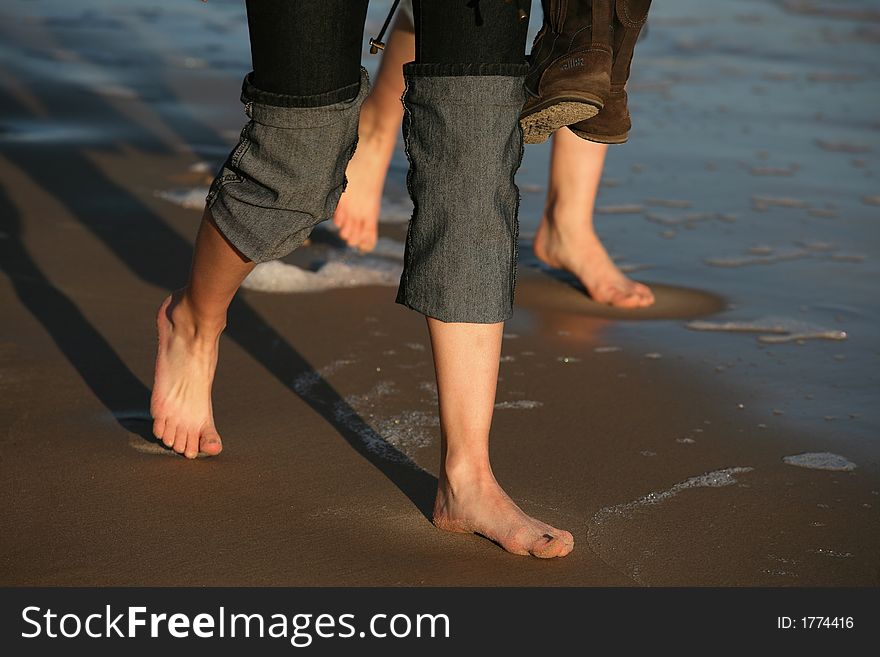
{"type": "Polygon", "coordinates": [[[593,207],[608,146],[580,139],[567,128],[553,135],[547,205],[535,235],[535,255],[572,272],[599,303],[641,308],[654,303],[650,288],[621,272],[593,228],[593,207]]]}

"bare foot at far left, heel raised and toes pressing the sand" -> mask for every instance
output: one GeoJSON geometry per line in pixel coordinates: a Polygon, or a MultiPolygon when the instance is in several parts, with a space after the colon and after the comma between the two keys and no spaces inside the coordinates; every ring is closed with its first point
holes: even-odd
{"type": "Polygon", "coordinates": [[[211,385],[223,327],[197,326],[175,292],[159,307],[159,350],[150,413],[153,433],[166,447],[193,459],[201,451],[219,454],[211,385]]]}

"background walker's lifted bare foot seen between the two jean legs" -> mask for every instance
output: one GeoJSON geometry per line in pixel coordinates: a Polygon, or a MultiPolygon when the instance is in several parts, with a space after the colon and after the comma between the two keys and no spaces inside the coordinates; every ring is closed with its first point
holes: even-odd
{"type": "Polygon", "coordinates": [[[358,147],[348,163],[348,185],[339,199],[333,222],[339,236],[360,251],[372,251],[379,234],[382,190],[391,162],[397,132],[377,125],[378,119],[369,101],[361,110],[358,147]]]}

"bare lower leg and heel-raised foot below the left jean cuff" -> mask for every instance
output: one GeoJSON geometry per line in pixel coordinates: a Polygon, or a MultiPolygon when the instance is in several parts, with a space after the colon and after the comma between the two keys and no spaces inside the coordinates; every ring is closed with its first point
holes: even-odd
{"type": "Polygon", "coordinates": [[[200,451],[213,456],[222,449],[211,406],[217,350],[232,297],[253,268],[217,230],[206,209],[189,282],[159,308],[150,404],[153,433],[187,458],[200,451]]]}

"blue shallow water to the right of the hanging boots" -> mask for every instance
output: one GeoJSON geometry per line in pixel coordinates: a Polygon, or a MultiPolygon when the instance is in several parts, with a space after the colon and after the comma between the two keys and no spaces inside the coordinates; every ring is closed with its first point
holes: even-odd
{"type": "MultiPolygon", "coordinates": [[[[606,338],[714,370],[757,393],[752,410],[784,409],[830,445],[877,449],[876,8],[681,0],[651,16],[633,68],[635,127],[610,150],[617,184],[598,202],[632,211],[597,226],[613,253],[650,264],[636,278],[724,296],[709,321],[733,330],[616,323],[606,338]],[[805,330],[736,332],[767,317],[805,330]]],[[[547,149],[527,150],[527,175],[539,175],[547,149]]],[[[524,224],[540,202],[524,198],[524,224]]]]}

